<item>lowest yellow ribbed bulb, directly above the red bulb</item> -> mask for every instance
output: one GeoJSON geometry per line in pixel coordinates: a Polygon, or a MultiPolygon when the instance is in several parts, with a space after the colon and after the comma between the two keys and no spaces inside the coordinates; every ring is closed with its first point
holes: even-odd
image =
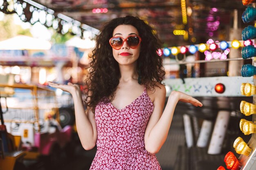
{"type": "Polygon", "coordinates": [[[243,141],[241,137],[236,138],[233,147],[235,148],[236,153],[238,154],[249,156],[252,152],[252,149],[249,148],[249,146],[247,146],[247,144],[245,143],[245,141],[243,141]]]}

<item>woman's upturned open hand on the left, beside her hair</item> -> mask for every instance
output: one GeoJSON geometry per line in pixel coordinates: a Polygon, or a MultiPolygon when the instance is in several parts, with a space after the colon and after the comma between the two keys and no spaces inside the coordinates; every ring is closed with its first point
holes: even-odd
{"type": "Polygon", "coordinates": [[[75,93],[77,95],[81,95],[80,87],[77,84],[67,83],[67,85],[65,85],[65,84],[57,84],[53,82],[47,82],[47,83],[49,86],[54,88],[59,88],[63,91],[71,93],[71,95],[74,95],[75,93]]]}

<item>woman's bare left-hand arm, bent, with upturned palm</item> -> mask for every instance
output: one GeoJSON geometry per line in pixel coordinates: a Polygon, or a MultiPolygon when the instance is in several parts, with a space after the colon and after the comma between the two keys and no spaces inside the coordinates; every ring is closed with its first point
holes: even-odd
{"type": "Polygon", "coordinates": [[[49,86],[54,88],[60,88],[63,91],[71,93],[74,100],[75,117],[76,117],[76,129],[79,135],[81,144],[85,150],[94,148],[97,141],[97,126],[92,113],[92,108],[87,108],[86,113],[83,106],[83,100],[81,91],[78,85],[68,84],[56,84],[48,82],[49,86]]]}

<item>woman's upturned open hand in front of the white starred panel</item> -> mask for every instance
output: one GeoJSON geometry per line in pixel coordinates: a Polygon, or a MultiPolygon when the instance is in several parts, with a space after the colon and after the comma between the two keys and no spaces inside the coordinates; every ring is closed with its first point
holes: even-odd
{"type": "Polygon", "coordinates": [[[180,91],[172,91],[171,92],[171,95],[169,96],[169,99],[171,97],[177,97],[178,101],[181,101],[181,102],[186,102],[186,103],[191,103],[193,104],[194,106],[200,106],[202,107],[203,104],[201,102],[199,102],[197,99],[193,98],[192,96],[190,95],[187,95],[185,93],[182,93],[180,91]]]}

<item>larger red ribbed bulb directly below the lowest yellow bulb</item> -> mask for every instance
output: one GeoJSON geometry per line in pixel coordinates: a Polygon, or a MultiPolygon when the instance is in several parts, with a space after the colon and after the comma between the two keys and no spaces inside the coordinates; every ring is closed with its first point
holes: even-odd
{"type": "Polygon", "coordinates": [[[240,170],[242,168],[241,163],[232,152],[227,153],[224,162],[229,170],[240,170]]]}

